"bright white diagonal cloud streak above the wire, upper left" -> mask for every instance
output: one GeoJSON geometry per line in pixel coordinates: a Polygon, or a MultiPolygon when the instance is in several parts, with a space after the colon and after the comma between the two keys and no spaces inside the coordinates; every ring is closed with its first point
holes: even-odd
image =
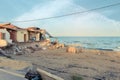
{"type": "Polygon", "coordinates": [[[44,6],[34,6],[30,11],[22,14],[17,17],[16,20],[30,20],[30,19],[38,19],[54,16],[58,10],[63,9],[67,4],[69,4],[68,0],[55,0],[49,3],[44,4],[44,6]]]}

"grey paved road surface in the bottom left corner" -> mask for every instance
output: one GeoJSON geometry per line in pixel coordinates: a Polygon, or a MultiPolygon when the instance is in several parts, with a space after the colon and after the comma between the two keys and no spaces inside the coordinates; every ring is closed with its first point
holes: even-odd
{"type": "Polygon", "coordinates": [[[0,71],[0,80],[26,80],[26,79],[0,71]]]}

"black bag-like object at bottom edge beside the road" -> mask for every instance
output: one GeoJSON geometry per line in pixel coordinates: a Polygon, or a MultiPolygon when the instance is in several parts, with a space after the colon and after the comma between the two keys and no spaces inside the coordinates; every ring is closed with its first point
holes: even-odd
{"type": "Polygon", "coordinates": [[[32,71],[32,70],[29,70],[26,73],[25,78],[28,80],[43,80],[38,71],[32,71]]]}

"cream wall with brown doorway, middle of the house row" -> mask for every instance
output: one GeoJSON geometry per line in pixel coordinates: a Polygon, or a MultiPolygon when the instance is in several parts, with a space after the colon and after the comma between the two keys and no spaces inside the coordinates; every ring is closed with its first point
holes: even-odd
{"type": "Polygon", "coordinates": [[[26,34],[26,42],[28,42],[28,31],[27,30],[18,30],[17,31],[17,41],[18,42],[25,42],[24,35],[26,34]]]}

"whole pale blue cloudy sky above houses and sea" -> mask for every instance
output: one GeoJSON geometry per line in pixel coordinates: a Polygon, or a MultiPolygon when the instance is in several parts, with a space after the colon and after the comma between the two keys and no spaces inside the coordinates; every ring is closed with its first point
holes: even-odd
{"type": "MultiPolygon", "coordinates": [[[[24,21],[86,11],[119,0],[1,0],[0,22],[24,21]]],[[[53,36],[120,36],[120,5],[61,18],[13,22],[39,27],[53,36]]]]}

